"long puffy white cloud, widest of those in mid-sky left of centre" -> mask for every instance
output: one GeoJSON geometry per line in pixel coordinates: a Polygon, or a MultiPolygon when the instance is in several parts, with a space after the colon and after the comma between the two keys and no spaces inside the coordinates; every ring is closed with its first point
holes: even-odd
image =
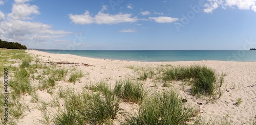
{"type": "Polygon", "coordinates": [[[86,11],[83,15],[73,15],[69,14],[69,18],[75,24],[90,24],[90,23],[97,23],[97,24],[116,24],[122,22],[136,22],[138,19],[137,17],[132,17],[132,14],[108,14],[99,12],[97,15],[92,17],[89,11],[86,11]]]}

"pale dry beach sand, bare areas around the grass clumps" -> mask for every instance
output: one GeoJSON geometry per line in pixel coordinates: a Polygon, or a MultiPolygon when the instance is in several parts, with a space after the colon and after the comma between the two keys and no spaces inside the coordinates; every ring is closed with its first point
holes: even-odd
{"type": "MultiPolygon", "coordinates": [[[[188,91],[182,88],[181,82],[173,82],[174,87],[183,98],[186,98],[188,103],[194,106],[195,109],[200,111],[200,115],[212,119],[226,118],[230,120],[232,124],[251,124],[253,120],[256,120],[256,86],[250,87],[250,85],[256,84],[256,62],[229,62],[229,61],[185,61],[185,62],[135,62],[135,61],[119,61],[119,60],[105,60],[94,59],[87,57],[79,57],[68,54],[49,54],[40,51],[26,51],[32,54],[34,57],[39,55],[38,58],[42,62],[60,62],[67,61],[78,64],[60,64],[61,67],[76,67],[81,69],[85,74],[80,82],[76,83],[74,87],[79,91],[88,82],[98,82],[104,80],[108,84],[113,85],[116,80],[125,80],[139,78],[138,72],[125,68],[126,66],[135,67],[159,67],[160,65],[173,65],[173,66],[189,66],[189,65],[205,65],[214,69],[221,74],[226,73],[224,77],[224,85],[222,86],[223,94],[215,102],[207,103],[202,98],[196,98],[191,96],[188,91]],[[83,64],[93,65],[84,66],[83,64]],[[242,99],[242,104],[239,106],[233,105],[237,102],[237,99],[242,99]],[[203,105],[198,105],[202,103],[203,105]]],[[[38,83],[33,83],[38,84],[38,83]]],[[[152,91],[162,91],[166,89],[162,87],[162,82],[156,82],[156,87],[152,79],[147,79],[145,86],[152,91]]],[[[68,82],[58,82],[59,86],[73,85],[68,82]]],[[[56,90],[57,91],[57,90],[56,90]]],[[[56,93],[55,91],[55,93],[56,93]]],[[[51,102],[52,96],[46,91],[37,91],[39,98],[51,102]]],[[[30,97],[25,98],[25,101],[30,101],[30,97]]],[[[31,108],[35,104],[30,104],[31,108]]],[[[129,109],[132,104],[122,103],[124,109],[129,109]]],[[[23,119],[20,120],[20,124],[35,124],[35,118],[40,119],[40,112],[33,108],[31,112],[27,112],[23,119]]]]}

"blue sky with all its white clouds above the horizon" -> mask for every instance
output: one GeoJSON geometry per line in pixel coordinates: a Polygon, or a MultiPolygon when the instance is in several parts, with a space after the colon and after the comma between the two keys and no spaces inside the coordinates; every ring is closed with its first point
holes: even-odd
{"type": "Polygon", "coordinates": [[[0,0],[0,39],[50,49],[249,49],[256,0],[0,0]]]}

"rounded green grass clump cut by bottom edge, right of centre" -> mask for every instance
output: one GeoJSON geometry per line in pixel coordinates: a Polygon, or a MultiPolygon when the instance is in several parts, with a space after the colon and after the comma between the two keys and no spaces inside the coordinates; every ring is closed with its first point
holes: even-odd
{"type": "Polygon", "coordinates": [[[185,124],[194,117],[193,108],[185,105],[175,91],[155,93],[147,98],[124,124],[185,124]]]}

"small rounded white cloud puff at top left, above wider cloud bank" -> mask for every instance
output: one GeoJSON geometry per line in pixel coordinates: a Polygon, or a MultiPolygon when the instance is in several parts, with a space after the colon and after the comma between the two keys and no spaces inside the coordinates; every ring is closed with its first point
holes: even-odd
{"type": "Polygon", "coordinates": [[[8,19],[31,19],[32,14],[40,14],[37,6],[25,4],[24,2],[27,1],[17,1],[12,6],[12,12],[8,14],[8,19]]]}

